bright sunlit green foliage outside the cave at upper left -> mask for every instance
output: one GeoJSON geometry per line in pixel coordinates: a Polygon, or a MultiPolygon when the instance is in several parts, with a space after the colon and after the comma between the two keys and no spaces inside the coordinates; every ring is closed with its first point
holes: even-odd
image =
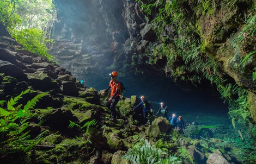
{"type": "Polygon", "coordinates": [[[46,45],[53,42],[49,38],[56,15],[52,0],[0,0],[0,22],[11,36],[28,51],[49,60],[53,56],[46,45]]]}

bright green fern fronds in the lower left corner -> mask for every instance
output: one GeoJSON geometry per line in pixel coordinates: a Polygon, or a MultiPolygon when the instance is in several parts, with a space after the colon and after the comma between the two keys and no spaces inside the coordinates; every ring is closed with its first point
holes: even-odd
{"type": "Polygon", "coordinates": [[[38,94],[24,106],[22,104],[16,105],[19,99],[28,92],[29,89],[22,91],[15,98],[11,98],[7,102],[7,109],[0,108],[0,116],[2,117],[0,118],[1,154],[26,152],[38,144],[42,139],[42,135],[46,133],[45,131],[33,140],[29,140],[28,119],[32,116],[29,110],[34,108],[39,99],[45,96],[45,93],[38,94]]]}

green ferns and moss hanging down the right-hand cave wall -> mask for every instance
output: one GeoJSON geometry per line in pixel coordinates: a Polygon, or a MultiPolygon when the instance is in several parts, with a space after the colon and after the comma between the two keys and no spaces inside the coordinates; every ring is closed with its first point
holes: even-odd
{"type": "MultiPolygon", "coordinates": [[[[156,24],[155,33],[161,43],[155,48],[147,48],[146,56],[161,59],[167,57],[166,72],[172,78],[190,80],[200,83],[208,79],[211,84],[216,84],[222,98],[229,104],[229,116],[237,131],[237,137],[244,144],[253,144],[249,138],[255,137],[255,123],[248,112],[248,92],[240,86],[223,78],[221,67],[217,59],[206,51],[206,40],[202,32],[202,25],[197,21],[201,16],[214,15],[219,9],[236,8],[236,1],[137,1],[145,14],[155,15],[152,24],[156,24]],[[188,7],[189,6],[189,7],[188,7]],[[193,12],[192,12],[192,11],[193,12]],[[168,30],[172,31],[172,39],[166,36],[168,30]],[[157,54],[157,55],[155,55],[157,54]],[[251,129],[251,130],[248,130],[251,129]],[[248,142],[247,142],[248,141],[248,142]]],[[[253,3],[253,2],[252,2],[253,3]]],[[[245,43],[251,40],[246,47],[249,52],[244,55],[241,65],[255,61],[255,3],[245,15],[241,30],[231,40],[231,45],[236,51],[242,51],[245,43]],[[247,42],[246,42],[247,41],[247,42]],[[252,44],[252,45],[250,45],[252,44]],[[254,60],[253,60],[254,59],[254,60]]],[[[231,37],[231,38],[232,38],[231,37]]],[[[154,66],[153,60],[150,63],[154,66]]],[[[252,73],[252,80],[256,79],[256,68],[252,73]]]]}

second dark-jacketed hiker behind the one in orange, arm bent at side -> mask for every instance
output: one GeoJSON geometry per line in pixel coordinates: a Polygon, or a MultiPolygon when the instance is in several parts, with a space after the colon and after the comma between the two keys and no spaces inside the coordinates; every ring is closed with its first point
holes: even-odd
{"type": "Polygon", "coordinates": [[[151,104],[147,100],[145,100],[145,96],[141,96],[141,103],[139,103],[137,106],[135,106],[135,108],[133,108],[132,110],[134,111],[139,106],[141,106],[142,110],[143,110],[144,124],[145,125],[150,124],[150,120],[148,119],[148,117],[150,117],[151,111],[153,111],[153,109],[152,109],[151,104]]]}

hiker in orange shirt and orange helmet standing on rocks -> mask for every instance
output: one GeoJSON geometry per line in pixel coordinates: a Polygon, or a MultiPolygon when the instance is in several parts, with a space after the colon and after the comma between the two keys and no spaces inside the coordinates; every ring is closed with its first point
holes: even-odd
{"type": "Polygon", "coordinates": [[[117,119],[117,114],[115,111],[115,105],[117,105],[120,99],[120,83],[117,81],[118,73],[113,71],[109,74],[111,76],[111,80],[109,81],[108,88],[101,93],[103,96],[109,89],[111,89],[111,95],[106,102],[107,108],[111,111],[112,118],[109,121],[115,121],[117,119]]]}

